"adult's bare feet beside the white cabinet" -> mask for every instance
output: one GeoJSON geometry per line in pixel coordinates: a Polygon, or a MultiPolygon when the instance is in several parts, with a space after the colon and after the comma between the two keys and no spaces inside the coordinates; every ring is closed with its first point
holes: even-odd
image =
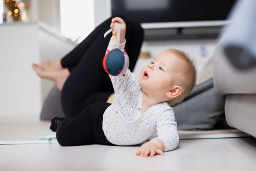
{"type": "Polygon", "coordinates": [[[67,68],[60,68],[58,65],[50,61],[46,61],[42,65],[32,64],[32,68],[36,71],[40,78],[53,81],[59,90],[62,90],[66,79],[70,75],[67,68]]]}

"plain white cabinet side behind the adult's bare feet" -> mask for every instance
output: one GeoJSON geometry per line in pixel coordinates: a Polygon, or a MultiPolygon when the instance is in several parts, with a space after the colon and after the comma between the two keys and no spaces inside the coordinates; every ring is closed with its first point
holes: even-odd
{"type": "Polygon", "coordinates": [[[40,80],[31,68],[39,63],[35,24],[0,25],[0,118],[38,117],[40,80]]]}

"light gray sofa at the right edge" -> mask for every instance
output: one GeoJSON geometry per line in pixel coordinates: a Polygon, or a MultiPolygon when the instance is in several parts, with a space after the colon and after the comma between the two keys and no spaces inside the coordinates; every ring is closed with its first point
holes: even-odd
{"type": "Polygon", "coordinates": [[[236,69],[218,46],[214,54],[213,69],[216,92],[227,94],[227,124],[256,137],[256,68],[236,69]]]}

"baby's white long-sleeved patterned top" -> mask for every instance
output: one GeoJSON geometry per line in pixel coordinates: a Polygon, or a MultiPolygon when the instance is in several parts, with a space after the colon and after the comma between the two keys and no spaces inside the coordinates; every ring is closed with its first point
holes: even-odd
{"type": "MultiPolygon", "coordinates": [[[[110,41],[108,49],[116,48],[110,41]]],[[[119,44],[124,49],[125,43],[119,44]]],[[[129,55],[129,54],[128,54],[129,55]]],[[[138,76],[129,69],[125,76],[111,76],[115,98],[103,114],[102,128],[108,141],[115,145],[137,145],[158,133],[165,144],[165,151],[173,150],[178,144],[177,123],[173,108],[167,103],[150,107],[143,114],[142,91],[138,76]]]]}

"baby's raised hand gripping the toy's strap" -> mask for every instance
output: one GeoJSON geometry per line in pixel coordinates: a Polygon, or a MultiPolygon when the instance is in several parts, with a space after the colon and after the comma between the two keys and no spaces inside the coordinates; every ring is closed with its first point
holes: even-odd
{"type": "Polygon", "coordinates": [[[126,24],[119,17],[113,18],[111,21],[111,24],[110,24],[110,28],[113,30],[112,31],[112,35],[113,35],[112,41],[114,43],[117,43],[118,23],[121,24],[120,43],[124,43],[125,42],[126,24]]]}

